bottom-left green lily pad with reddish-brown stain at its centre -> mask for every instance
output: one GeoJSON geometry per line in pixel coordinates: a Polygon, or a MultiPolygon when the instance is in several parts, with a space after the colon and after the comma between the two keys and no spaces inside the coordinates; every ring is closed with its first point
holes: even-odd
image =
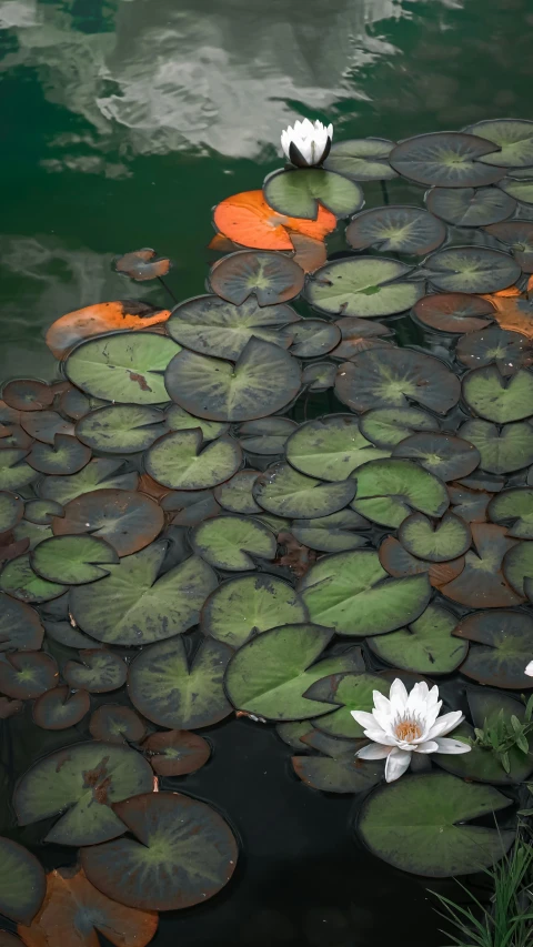
{"type": "Polygon", "coordinates": [[[19,780],[13,805],[19,825],[61,813],[46,842],[97,845],[127,830],[112,804],[152,786],[151,766],[134,750],[78,743],[34,763],[19,780]]]}

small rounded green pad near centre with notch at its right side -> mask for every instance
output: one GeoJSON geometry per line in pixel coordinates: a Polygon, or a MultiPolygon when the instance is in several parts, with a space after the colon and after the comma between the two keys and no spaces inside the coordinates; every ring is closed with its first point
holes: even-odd
{"type": "Polygon", "coordinates": [[[230,572],[255,568],[255,560],[273,560],[275,536],[268,526],[247,516],[223,514],[200,523],[191,534],[197,555],[230,572]]]}

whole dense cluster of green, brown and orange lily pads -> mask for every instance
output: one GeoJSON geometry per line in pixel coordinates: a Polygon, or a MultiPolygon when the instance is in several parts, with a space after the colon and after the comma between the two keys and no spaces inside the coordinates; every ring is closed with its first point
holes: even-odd
{"type": "Polygon", "coordinates": [[[30,947],[77,898],[101,918],[80,944],[148,944],[155,911],[230,880],[235,832],[172,780],[235,715],[275,725],[314,790],[360,796],[361,839],[396,867],[465,874],[511,845],[473,820],[511,805],[531,754],[509,773],[436,755],[391,787],[351,714],[396,676],[444,681],[469,741],[496,708],[520,719],[533,683],[533,183],[512,177],[533,181],[533,125],[481,125],[341,142],[227,199],[207,293],[68,313],[57,381],[3,386],[0,713],[64,732],[13,807],[80,849],[47,879],[0,842],[0,909],[30,947]],[[402,177],[420,205],[363,209],[402,177]]]}

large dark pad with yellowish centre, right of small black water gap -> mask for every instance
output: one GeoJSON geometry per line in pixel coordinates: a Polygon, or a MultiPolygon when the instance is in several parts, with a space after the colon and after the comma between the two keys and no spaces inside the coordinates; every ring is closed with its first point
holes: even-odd
{"type": "Polygon", "coordinates": [[[414,401],[445,414],[461,393],[459,379],[439,359],[410,349],[373,349],[339,366],[335,394],[352,411],[409,407],[414,401]]]}

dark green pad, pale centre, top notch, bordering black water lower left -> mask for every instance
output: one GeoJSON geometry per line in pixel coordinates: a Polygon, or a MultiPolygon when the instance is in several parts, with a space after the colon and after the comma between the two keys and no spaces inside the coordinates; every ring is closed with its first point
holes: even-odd
{"type": "Polygon", "coordinates": [[[130,701],[162,727],[199,729],[218,724],[231,713],[222,681],[232,653],[227,644],[210,637],[192,661],[182,638],[150,645],[130,665],[130,701]]]}

